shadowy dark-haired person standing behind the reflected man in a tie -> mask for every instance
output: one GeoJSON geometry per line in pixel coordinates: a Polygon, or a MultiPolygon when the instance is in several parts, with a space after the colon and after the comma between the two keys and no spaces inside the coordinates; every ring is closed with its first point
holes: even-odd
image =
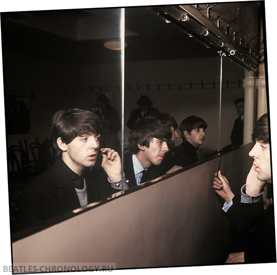
{"type": "Polygon", "coordinates": [[[154,107],[152,107],[152,101],[149,99],[149,97],[143,95],[140,96],[140,98],[137,101],[137,104],[139,105],[139,108],[133,110],[131,112],[130,118],[127,121],[127,127],[132,130],[141,118],[145,118],[149,116],[153,112],[158,112],[158,110],[154,107]]]}

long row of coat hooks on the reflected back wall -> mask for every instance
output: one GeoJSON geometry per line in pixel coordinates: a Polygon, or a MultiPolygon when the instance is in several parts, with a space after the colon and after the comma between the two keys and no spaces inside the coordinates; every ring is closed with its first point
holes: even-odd
{"type": "MultiPolygon", "coordinates": [[[[228,80],[226,80],[226,82],[222,83],[222,88],[241,88],[242,87],[242,80],[238,79],[238,81],[232,81],[229,82],[228,80]]],[[[166,90],[172,90],[172,91],[176,91],[176,90],[196,90],[196,89],[216,89],[216,88],[220,88],[220,83],[212,81],[212,82],[206,82],[204,83],[203,81],[201,81],[200,83],[192,83],[192,81],[190,81],[189,83],[186,84],[170,84],[169,82],[167,82],[166,84],[159,84],[158,82],[156,82],[156,84],[148,84],[146,82],[146,85],[139,85],[139,83],[136,83],[135,85],[129,85],[126,84],[125,85],[125,91],[166,91],[166,90]]],[[[93,92],[104,92],[104,91],[115,91],[121,90],[121,87],[118,86],[110,86],[110,87],[101,87],[100,85],[98,86],[94,86],[94,87],[81,87],[80,88],[82,92],[86,92],[86,91],[90,91],[91,93],[93,92]]]]}

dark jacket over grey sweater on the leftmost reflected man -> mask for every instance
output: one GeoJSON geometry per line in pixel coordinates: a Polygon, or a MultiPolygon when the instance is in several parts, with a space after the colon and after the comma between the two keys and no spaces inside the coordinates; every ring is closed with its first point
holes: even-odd
{"type": "MultiPolygon", "coordinates": [[[[85,170],[88,203],[116,193],[104,170],[85,170]]],[[[14,231],[44,226],[81,207],[75,188],[61,159],[33,180],[22,192],[15,211],[14,231]]]]}

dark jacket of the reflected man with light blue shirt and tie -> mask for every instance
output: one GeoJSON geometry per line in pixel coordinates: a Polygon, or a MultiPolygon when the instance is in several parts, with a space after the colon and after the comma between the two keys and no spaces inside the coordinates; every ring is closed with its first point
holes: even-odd
{"type": "MultiPolygon", "coordinates": [[[[151,165],[147,169],[146,181],[155,179],[155,178],[160,176],[158,171],[153,169],[153,167],[154,166],[151,165]]],[[[129,182],[128,182],[129,188],[131,188],[133,186],[137,186],[137,181],[136,181],[136,176],[135,176],[135,171],[134,171],[133,158],[132,158],[132,154],[129,153],[129,152],[124,155],[124,168],[123,169],[124,169],[126,179],[129,180],[129,182]]]]}

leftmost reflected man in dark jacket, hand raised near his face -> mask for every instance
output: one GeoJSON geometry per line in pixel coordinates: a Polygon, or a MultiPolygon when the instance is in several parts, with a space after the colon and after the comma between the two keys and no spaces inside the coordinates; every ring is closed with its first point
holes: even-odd
{"type": "Polygon", "coordinates": [[[23,190],[16,205],[14,232],[49,226],[53,219],[107,198],[118,189],[128,189],[118,152],[100,149],[102,131],[100,118],[88,110],[61,110],[53,116],[57,159],[23,190]],[[102,169],[94,170],[99,152],[102,169]]]}

